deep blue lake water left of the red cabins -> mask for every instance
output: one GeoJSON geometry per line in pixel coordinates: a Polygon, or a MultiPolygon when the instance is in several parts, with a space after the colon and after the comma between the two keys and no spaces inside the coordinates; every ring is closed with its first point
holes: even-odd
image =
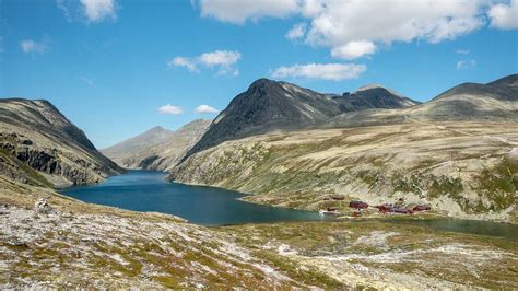
{"type": "Polygon", "coordinates": [[[202,225],[323,220],[311,211],[275,208],[237,200],[244,194],[165,181],[166,173],[129,171],[104,183],[64,188],[60,193],[97,205],[155,211],[202,225]]]}

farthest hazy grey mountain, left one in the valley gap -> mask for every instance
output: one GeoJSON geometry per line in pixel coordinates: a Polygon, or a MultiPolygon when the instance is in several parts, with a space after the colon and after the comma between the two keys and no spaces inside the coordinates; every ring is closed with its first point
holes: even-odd
{"type": "Polygon", "coordinates": [[[121,141],[113,147],[102,149],[101,152],[119,163],[122,159],[133,156],[144,148],[166,141],[173,136],[173,133],[174,131],[172,130],[156,126],[137,137],[121,141]]]}

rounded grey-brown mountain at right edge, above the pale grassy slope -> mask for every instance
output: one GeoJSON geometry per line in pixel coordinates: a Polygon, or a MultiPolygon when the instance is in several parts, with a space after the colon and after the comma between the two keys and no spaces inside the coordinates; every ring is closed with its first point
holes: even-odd
{"type": "Polygon", "coordinates": [[[518,120],[518,74],[487,84],[463,83],[431,101],[407,108],[366,109],[333,117],[323,127],[355,127],[431,121],[518,120]]]}

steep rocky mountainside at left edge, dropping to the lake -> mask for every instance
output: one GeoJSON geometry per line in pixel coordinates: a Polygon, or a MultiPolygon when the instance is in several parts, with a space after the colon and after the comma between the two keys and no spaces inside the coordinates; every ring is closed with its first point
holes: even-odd
{"type": "Polygon", "coordinates": [[[47,101],[0,100],[0,173],[33,185],[103,181],[122,170],[47,101]]]}

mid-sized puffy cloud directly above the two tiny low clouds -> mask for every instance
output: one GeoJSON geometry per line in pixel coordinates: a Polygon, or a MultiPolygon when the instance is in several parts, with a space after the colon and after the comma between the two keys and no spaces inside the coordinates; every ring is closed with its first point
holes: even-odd
{"type": "Polygon", "coordinates": [[[217,74],[239,74],[239,70],[235,67],[242,58],[239,51],[214,50],[203,53],[198,57],[175,57],[167,62],[168,67],[185,67],[191,72],[199,71],[198,67],[202,66],[210,69],[216,69],[217,74]]]}

